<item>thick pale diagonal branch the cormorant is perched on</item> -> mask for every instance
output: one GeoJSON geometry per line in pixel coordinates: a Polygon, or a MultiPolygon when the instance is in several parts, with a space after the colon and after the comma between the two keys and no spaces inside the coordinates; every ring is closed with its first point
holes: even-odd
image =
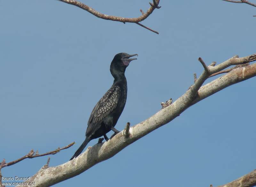
{"type": "Polygon", "coordinates": [[[255,60],[256,54],[253,54],[243,58],[230,58],[217,66],[208,66],[208,73],[204,70],[194,85],[192,85],[186,93],[178,98],[174,103],[161,109],[147,120],[130,127],[129,137],[126,136],[127,134],[125,132],[127,132],[127,130],[125,129],[108,142],[88,147],[86,151],[76,159],[56,167],[41,168],[34,176],[30,177],[30,180],[26,182],[35,182],[36,186],[40,187],[51,186],[79,175],[95,164],[113,157],[129,144],[132,144],[153,130],[172,121],[191,105],[196,104],[202,99],[209,97],[232,84],[256,76],[256,63],[249,66],[238,67],[230,71],[228,74],[202,86],[203,82],[209,77],[209,74],[222,71],[228,66],[245,64],[255,60]]]}

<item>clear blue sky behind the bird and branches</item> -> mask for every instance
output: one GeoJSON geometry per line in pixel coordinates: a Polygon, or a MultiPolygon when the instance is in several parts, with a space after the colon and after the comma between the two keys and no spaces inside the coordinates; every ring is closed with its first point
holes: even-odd
{"type": "MultiPolygon", "coordinates": [[[[148,0],[81,2],[124,17],[138,17],[140,9],[149,8],[148,0]]],[[[50,166],[67,162],[84,141],[92,108],[112,85],[109,66],[116,53],[139,54],[125,73],[127,103],[116,125],[122,130],[127,121],[135,125],[156,113],[160,102],[180,97],[193,84],[193,73],[203,71],[199,56],[210,64],[256,52],[255,7],[220,0],[160,5],[142,22],[160,33],[156,35],[57,0],[1,1],[0,160],[75,141],[50,156],[50,166]]],[[[255,169],[255,93],[255,78],[230,86],[113,158],[55,186],[228,183],[255,169]]],[[[3,168],[2,175],[32,176],[47,158],[23,160],[3,168]]]]}

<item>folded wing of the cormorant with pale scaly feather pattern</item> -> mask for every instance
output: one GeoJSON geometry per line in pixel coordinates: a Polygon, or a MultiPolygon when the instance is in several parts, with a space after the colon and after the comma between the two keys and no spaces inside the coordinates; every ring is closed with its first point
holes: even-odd
{"type": "Polygon", "coordinates": [[[88,120],[86,136],[94,134],[94,132],[100,128],[100,123],[116,108],[119,97],[120,87],[118,85],[111,86],[104,96],[101,97],[99,102],[94,106],[88,120]]]}

